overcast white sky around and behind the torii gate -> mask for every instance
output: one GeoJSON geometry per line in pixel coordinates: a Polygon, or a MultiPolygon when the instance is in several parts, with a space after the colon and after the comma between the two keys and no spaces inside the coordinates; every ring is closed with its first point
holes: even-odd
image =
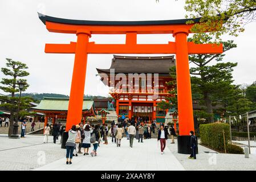
{"type": "MultiPolygon", "coordinates": [[[[1,0],[0,67],[5,58],[26,63],[30,76],[27,93],[70,94],[73,54],[46,54],[45,43],[76,42],[74,34],[48,32],[37,12],[49,16],[82,20],[167,20],[185,18],[184,1],[160,0],[1,0]]],[[[226,52],[225,61],[238,62],[234,69],[235,84],[256,81],[256,23],[247,24],[245,32],[234,40],[237,48],[226,52]]],[[[138,35],[138,43],[168,43],[172,35],[138,35]]],[[[96,43],[124,43],[124,35],[92,35],[96,43]]],[[[147,55],[142,55],[147,56],[147,55]]],[[[152,56],[152,55],[151,55],[152,56]]],[[[108,95],[108,88],[96,77],[96,68],[109,68],[113,55],[88,55],[84,94],[108,95]]],[[[0,73],[0,78],[3,74],[0,73]]],[[[0,93],[3,93],[0,90],[0,93]]]]}

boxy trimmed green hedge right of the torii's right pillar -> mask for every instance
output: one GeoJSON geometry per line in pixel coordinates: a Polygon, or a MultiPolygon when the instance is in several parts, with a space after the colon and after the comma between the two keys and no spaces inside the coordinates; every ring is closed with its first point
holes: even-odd
{"type": "Polygon", "coordinates": [[[222,130],[225,132],[225,143],[230,141],[229,125],[226,123],[209,123],[199,126],[201,143],[213,149],[224,151],[224,138],[222,130]]]}

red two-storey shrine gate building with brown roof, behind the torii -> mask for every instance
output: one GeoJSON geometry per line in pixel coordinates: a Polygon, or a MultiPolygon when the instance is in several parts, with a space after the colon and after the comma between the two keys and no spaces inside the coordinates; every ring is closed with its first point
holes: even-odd
{"type": "Polygon", "coordinates": [[[165,122],[167,110],[157,103],[171,97],[166,83],[172,78],[169,68],[175,66],[174,56],[136,57],[114,55],[109,69],[97,72],[105,85],[112,85],[111,96],[116,100],[116,114],[129,119],[157,123],[165,122]],[[123,77],[125,76],[125,81],[123,77]],[[121,78],[122,77],[122,78],[121,78]],[[107,80],[105,80],[107,79],[107,80]],[[115,82],[115,85],[113,85],[115,82]]]}

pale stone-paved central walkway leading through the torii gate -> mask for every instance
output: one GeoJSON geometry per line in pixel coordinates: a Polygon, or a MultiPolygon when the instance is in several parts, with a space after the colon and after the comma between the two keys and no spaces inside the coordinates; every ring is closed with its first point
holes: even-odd
{"type": "MultiPolygon", "coordinates": [[[[110,138],[108,139],[110,141],[110,138]]],[[[92,147],[90,148],[90,151],[92,147]]],[[[134,140],[133,147],[129,147],[129,140],[123,138],[121,147],[116,147],[115,143],[108,145],[100,144],[97,150],[98,155],[79,155],[73,158],[72,164],[66,164],[66,159],[62,158],[54,163],[47,164],[36,170],[184,170],[184,167],[166,147],[165,154],[160,154],[160,143],[157,146],[156,139],[144,140],[144,143],[138,143],[134,140]]]]}

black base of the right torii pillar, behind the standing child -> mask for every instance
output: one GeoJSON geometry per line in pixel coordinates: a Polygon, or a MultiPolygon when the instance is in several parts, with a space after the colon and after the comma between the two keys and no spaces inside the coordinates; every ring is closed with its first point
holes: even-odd
{"type": "MultiPolygon", "coordinates": [[[[191,154],[192,149],[190,148],[190,138],[191,137],[189,135],[178,136],[178,153],[179,154],[191,154]]],[[[198,147],[197,147],[196,154],[198,154],[198,147]]]]}

